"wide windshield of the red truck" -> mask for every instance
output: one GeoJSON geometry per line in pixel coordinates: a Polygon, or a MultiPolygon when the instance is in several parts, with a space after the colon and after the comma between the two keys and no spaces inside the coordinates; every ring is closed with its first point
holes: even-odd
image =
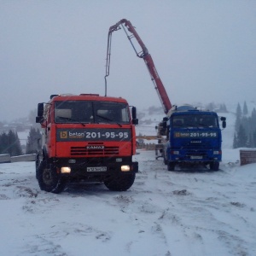
{"type": "Polygon", "coordinates": [[[119,102],[55,102],[55,123],[129,124],[129,108],[119,102]]]}

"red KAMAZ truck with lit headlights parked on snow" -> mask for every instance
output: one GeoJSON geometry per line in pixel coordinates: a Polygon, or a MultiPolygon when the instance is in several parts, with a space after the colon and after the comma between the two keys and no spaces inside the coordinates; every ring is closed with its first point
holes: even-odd
{"type": "Polygon", "coordinates": [[[136,108],[123,98],[91,94],[53,95],[38,103],[42,127],[37,154],[40,189],[60,193],[67,182],[102,182],[125,191],[134,183],[136,108]]]}

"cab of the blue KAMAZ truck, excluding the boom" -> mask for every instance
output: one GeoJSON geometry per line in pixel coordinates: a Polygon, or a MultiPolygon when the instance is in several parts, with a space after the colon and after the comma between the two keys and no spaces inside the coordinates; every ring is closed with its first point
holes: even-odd
{"type": "Polygon", "coordinates": [[[163,156],[168,171],[174,171],[180,164],[209,165],[212,171],[218,171],[222,160],[220,121],[225,128],[225,118],[219,118],[215,112],[191,106],[171,109],[163,120],[166,131],[163,156]]]}

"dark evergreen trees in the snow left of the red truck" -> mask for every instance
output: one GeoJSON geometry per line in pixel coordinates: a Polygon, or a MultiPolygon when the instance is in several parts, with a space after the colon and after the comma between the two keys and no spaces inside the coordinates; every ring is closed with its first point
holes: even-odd
{"type": "MultiPolygon", "coordinates": [[[[34,154],[41,147],[41,132],[32,127],[26,141],[25,154],[34,154]]],[[[10,156],[22,155],[20,139],[17,132],[9,130],[0,134],[0,154],[10,154],[10,156]]]]}

